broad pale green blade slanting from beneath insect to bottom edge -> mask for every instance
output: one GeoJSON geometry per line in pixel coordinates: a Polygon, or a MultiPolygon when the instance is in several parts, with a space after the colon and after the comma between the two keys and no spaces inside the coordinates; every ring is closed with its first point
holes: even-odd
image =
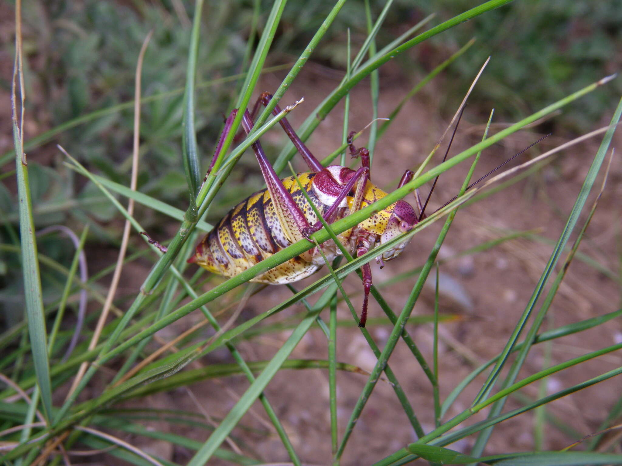
{"type": "Polygon", "coordinates": [[[271,359],[266,368],[258,375],[251,386],[244,392],[238,403],[233,406],[231,411],[225,416],[216,430],[212,432],[211,436],[202,445],[195,454],[188,466],[203,466],[207,464],[208,460],[213,455],[214,451],[220,447],[220,444],[225,441],[225,438],[230,434],[234,427],[238,424],[239,420],[244,416],[244,413],[248,411],[254,401],[258,398],[262,391],[266,388],[267,384],[272,380],[272,377],[277,373],[282,363],[289,357],[291,352],[300,342],[302,337],[307,334],[309,328],[315,321],[315,317],[320,314],[323,308],[327,306],[337,290],[337,285],[330,285],[328,289],[323,293],[322,297],[318,299],[318,302],[313,306],[313,311],[307,313],[299,326],[292,332],[290,337],[285,341],[281,348],[277,351],[276,355],[271,359]]]}

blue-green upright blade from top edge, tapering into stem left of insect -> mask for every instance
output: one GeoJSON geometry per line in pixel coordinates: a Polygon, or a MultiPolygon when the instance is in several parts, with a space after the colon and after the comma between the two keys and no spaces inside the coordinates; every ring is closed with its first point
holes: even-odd
{"type": "Polygon", "coordinates": [[[183,170],[186,173],[190,206],[187,212],[188,221],[195,221],[197,216],[197,189],[201,175],[198,161],[197,130],[195,127],[195,80],[197,79],[198,43],[201,34],[201,17],[203,0],[195,1],[192,33],[190,35],[190,49],[188,50],[188,65],[186,70],[186,88],[183,93],[183,137],[182,159],[183,170]]]}

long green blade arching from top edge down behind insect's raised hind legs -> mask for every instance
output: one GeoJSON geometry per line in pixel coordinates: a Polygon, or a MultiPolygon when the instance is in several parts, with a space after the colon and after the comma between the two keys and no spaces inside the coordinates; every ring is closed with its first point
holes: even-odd
{"type": "MultiPolygon", "coordinates": [[[[307,140],[312,132],[315,130],[315,128],[317,128],[320,122],[322,122],[323,119],[328,115],[328,113],[332,111],[332,109],[335,107],[335,105],[337,105],[341,98],[343,98],[345,94],[348,93],[348,91],[353,88],[357,83],[363,80],[363,78],[366,78],[366,76],[368,76],[371,71],[376,70],[376,68],[384,65],[384,63],[391,60],[391,58],[396,57],[396,55],[399,55],[399,53],[405,52],[409,48],[414,47],[415,45],[423,42],[424,40],[430,39],[430,37],[434,37],[434,35],[440,34],[447,29],[451,29],[455,25],[473,19],[474,17],[480,16],[485,12],[501,7],[511,1],[512,0],[490,0],[481,4],[480,6],[471,8],[470,10],[453,17],[448,21],[442,22],[441,24],[432,27],[432,29],[429,29],[422,34],[413,37],[411,40],[408,40],[407,42],[402,43],[402,45],[399,45],[399,47],[396,47],[385,53],[382,57],[378,57],[376,60],[370,62],[368,65],[362,67],[360,70],[356,70],[355,74],[351,76],[350,80],[345,81],[343,84],[338,86],[338,88],[332,91],[332,93],[330,93],[327,98],[325,98],[322,103],[320,103],[318,107],[316,107],[315,111],[310,113],[310,116],[305,120],[305,122],[297,131],[300,139],[302,139],[303,141],[307,140]]],[[[287,160],[293,157],[294,153],[295,148],[293,147],[293,145],[288,144],[287,147],[284,147],[281,153],[279,153],[279,157],[277,158],[276,162],[274,163],[274,170],[276,170],[277,173],[280,173],[283,168],[285,168],[287,160]]]]}

